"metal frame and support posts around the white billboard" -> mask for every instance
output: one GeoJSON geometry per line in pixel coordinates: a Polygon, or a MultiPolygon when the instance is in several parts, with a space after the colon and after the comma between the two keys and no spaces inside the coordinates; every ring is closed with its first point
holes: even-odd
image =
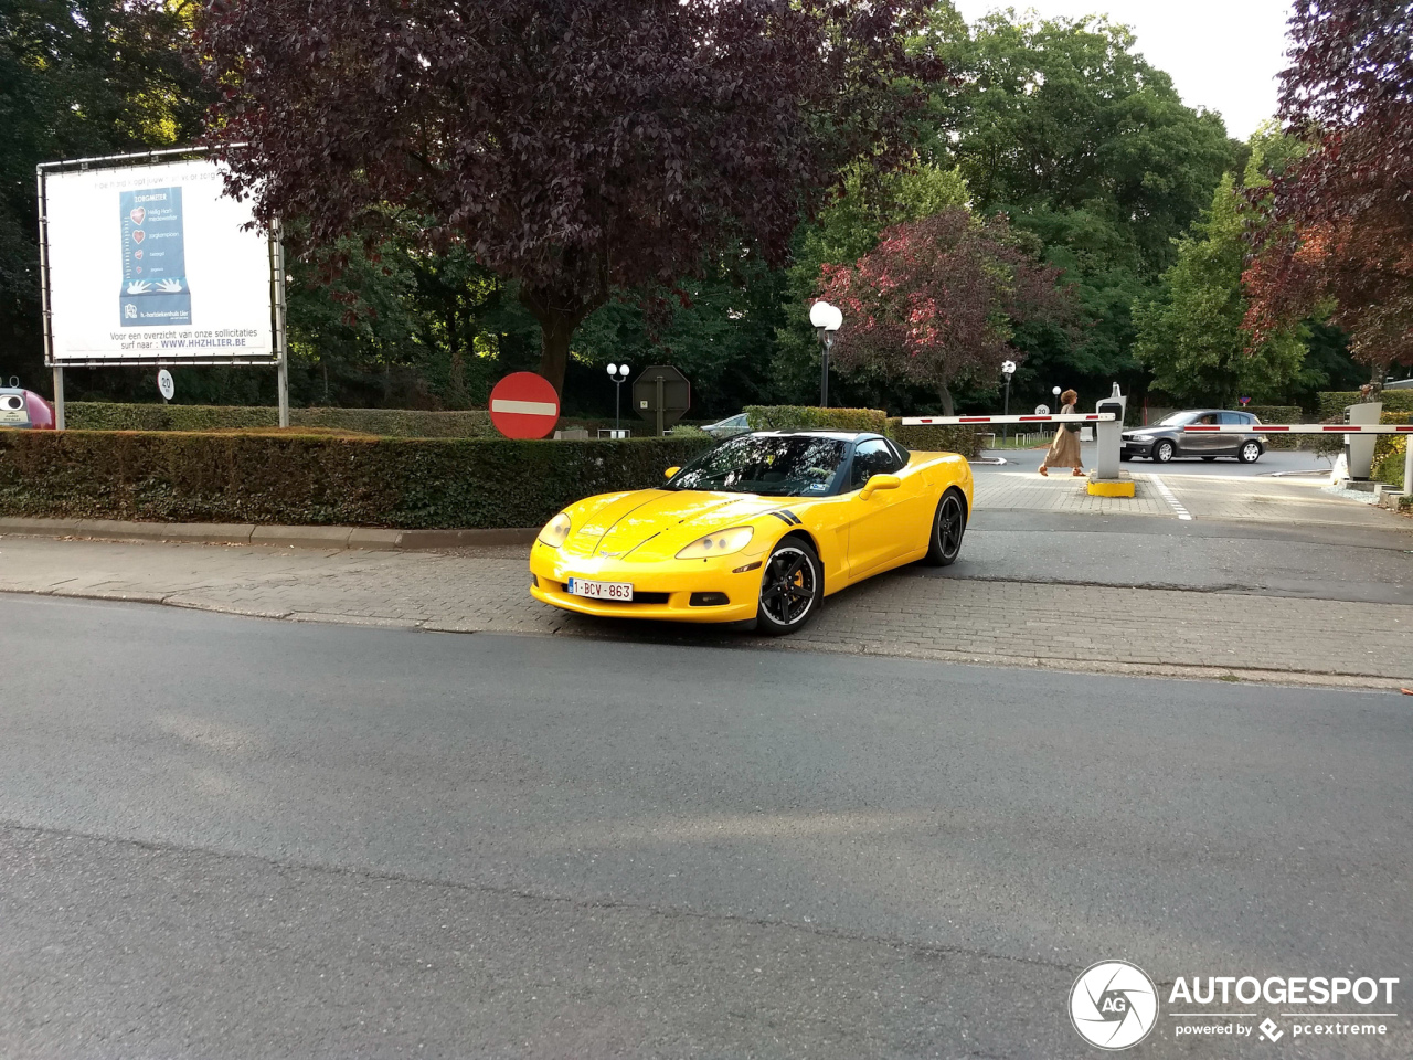
{"type": "MultiPolygon", "coordinates": [[[[235,147],[240,147],[236,144],[235,147]]],[[[40,163],[35,179],[40,191],[40,300],[44,324],[44,363],[54,370],[55,427],[65,427],[64,417],[64,369],[65,367],[172,367],[196,365],[271,366],[277,370],[280,391],[280,425],[290,425],[290,351],[285,336],[285,291],[284,291],[284,245],[280,242],[278,223],[267,235],[270,263],[270,353],[179,353],[154,356],[57,356],[54,349],[54,308],[49,276],[49,205],[47,181],[51,175],[66,172],[89,172],[96,170],[134,168],[160,163],[198,161],[209,155],[206,147],[174,147],[161,151],[137,154],[109,154],[92,158],[65,158],[40,163]]]]}

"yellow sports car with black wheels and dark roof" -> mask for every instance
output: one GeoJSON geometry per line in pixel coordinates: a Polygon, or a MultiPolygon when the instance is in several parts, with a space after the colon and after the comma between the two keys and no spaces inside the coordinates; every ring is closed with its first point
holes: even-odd
{"type": "Polygon", "coordinates": [[[668,468],[658,489],[564,509],[530,550],[530,592],[585,615],[791,633],[870,575],[954,563],[971,503],[957,454],[876,434],[743,434],[668,468]]]}

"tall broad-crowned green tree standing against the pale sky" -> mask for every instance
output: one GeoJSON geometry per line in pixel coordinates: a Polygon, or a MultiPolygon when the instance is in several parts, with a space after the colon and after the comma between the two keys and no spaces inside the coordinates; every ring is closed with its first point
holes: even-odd
{"type": "Polygon", "coordinates": [[[1157,291],[1174,240],[1243,147],[1218,114],[1181,102],[1128,27],[1015,11],[966,27],[942,6],[934,34],[958,88],[934,95],[933,161],[959,167],[978,212],[1005,212],[1039,236],[1092,321],[1074,338],[1017,334],[1027,359],[1016,393],[1142,386],[1133,305],[1157,291]]]}

